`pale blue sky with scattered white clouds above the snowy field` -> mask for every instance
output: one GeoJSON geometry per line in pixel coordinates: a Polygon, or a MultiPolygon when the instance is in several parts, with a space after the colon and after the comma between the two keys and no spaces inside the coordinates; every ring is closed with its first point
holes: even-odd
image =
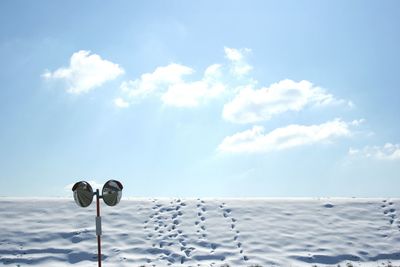
{"type": "Polygon", "coordinates": [[[1,1],[2,196],[399,196],[398,1],[1,1]]]}

